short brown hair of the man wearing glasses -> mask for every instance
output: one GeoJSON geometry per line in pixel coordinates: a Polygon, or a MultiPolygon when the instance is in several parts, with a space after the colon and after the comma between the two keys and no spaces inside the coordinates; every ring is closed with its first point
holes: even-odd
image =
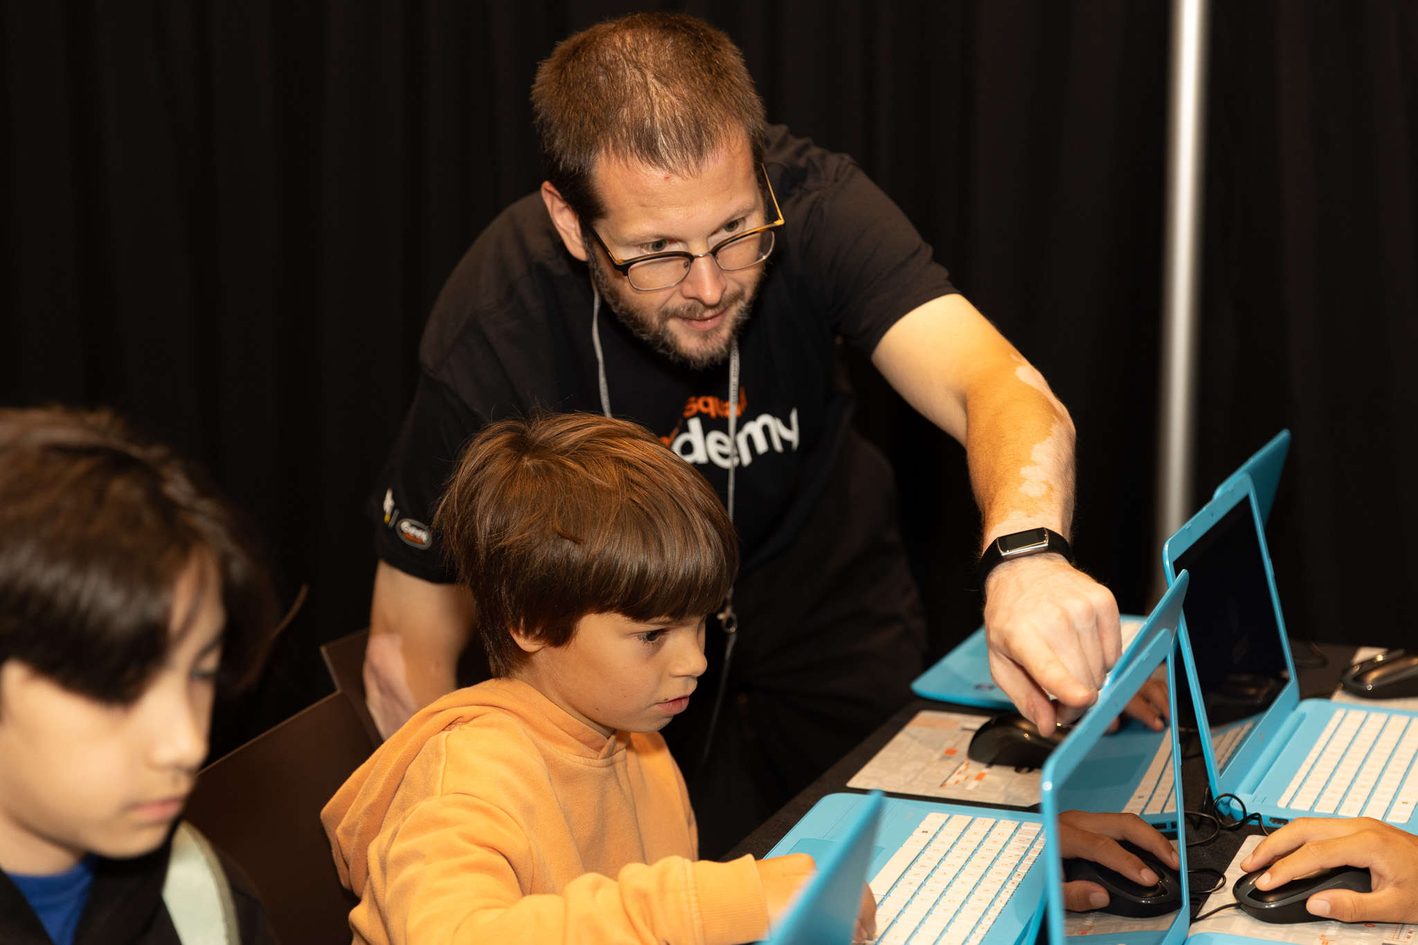
{"type": "Polygon", "coordinates": [[[634,13],[567,37],[537,68],[532,109],[546,177],[583,224],[611,154],[679,176],[740,135],[763,160],[763,99],[726,34],[682,13],[634,13]]]}

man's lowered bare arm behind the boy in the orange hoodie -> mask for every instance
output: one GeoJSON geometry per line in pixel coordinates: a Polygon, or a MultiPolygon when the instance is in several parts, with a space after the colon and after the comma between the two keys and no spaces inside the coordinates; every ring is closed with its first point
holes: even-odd
{"type": "Polygon", "coordinates": [[[472,633],[472,596],[461,584],[432,584],[384,561],[364,650],[364,701],[389,738],[415,711],[458,687],[458,656],[472,633]]]}

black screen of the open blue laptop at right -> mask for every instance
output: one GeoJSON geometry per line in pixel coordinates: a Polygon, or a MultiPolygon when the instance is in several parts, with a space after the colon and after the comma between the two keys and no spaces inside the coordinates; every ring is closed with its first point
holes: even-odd
{"type": "Polygon", "coordinates": [[[1191,574],[1181,609],[1212,732],[1263,714],[1290,673],[1251,497],[1236,503],[1173,567],[1191,574]]]}

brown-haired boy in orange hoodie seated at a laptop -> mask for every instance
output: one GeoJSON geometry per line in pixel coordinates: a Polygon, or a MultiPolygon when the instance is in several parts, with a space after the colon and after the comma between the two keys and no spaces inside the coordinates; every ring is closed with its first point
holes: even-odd
{"type": "Polygon", "coordinates": [[[709,483],[632,424],[503,421],[464,452],[435,528],[496,679],[417,713],[322,812],[354,941],[763,938],[813,860],[698,860],[658,734],[737,570],[709,483]]]}

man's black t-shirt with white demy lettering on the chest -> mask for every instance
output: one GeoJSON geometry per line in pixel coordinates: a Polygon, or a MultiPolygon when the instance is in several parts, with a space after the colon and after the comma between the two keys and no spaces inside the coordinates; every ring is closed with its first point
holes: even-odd
{"type": "MultiPolygon", "coordinates": [[[[903,315],[954,292],[851,157],[776,126],[764,166],[786,222],[739,339],[735,524],[746,570],[791,545],[842,455],[852,401],[837,339],[871,354],[903,315]]],[[[468,439],[535,408],[601,412],[591,307],[586,264],[566,251],[539,194],[478,237],[434,305],[414,404],[372,497],[380,558],[451,581],[427,523],[468,439]]],[[[729,366],[672,364],[605,306],[600,337],[611,412],[661,436],[725,497],[729,366]]]]}

